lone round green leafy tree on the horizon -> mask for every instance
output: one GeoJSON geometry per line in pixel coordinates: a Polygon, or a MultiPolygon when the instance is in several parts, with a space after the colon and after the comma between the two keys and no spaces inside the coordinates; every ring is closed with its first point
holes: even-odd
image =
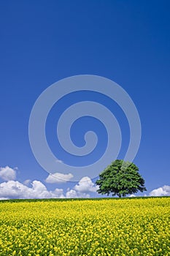
{"type": "Polygon", "coordinates": [[[99,174],[96,184],[99,186],[97,192],[102,195],[112,193],[112,196],[125,197],[125,195],[147,190],[138,167],[132,162],[118,159],[99,174]]]}

